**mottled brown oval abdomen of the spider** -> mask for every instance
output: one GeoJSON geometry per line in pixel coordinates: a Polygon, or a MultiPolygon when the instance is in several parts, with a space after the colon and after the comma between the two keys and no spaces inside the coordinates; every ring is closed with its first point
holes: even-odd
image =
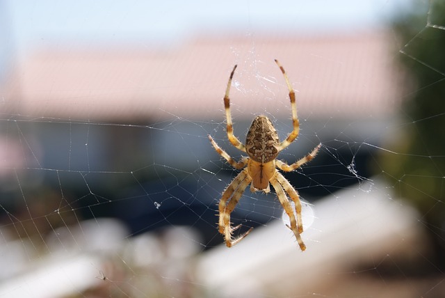
{"type": "Polygon", "coordinates": [[[257,116],[250,125],[245,151],[255,162],[265,164],[277,157],[277,146],[280,144],[277,130],[266,116],[257,116]]]}

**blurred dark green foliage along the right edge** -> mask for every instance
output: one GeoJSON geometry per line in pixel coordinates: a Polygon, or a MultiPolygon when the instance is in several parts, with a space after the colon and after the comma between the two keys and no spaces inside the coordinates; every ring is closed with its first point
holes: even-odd
{"type": "Polygon", "coordinates": [[[389,148],[396,153],[385,153],[380,166],[398,194],[419,209],[445,260],[445,1],[426,5],[394,22],[410,83],[401,107],[405,124],[389,148]]]}

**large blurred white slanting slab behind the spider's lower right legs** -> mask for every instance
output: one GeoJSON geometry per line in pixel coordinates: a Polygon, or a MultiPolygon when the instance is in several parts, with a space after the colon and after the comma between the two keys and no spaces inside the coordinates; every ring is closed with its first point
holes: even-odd
{"type": "Polygon", "coordinates": [[[330,274],[344,272],[346,264],[378,259],[407,247],[410,240],[419,242],[416,213],[393,201],[384,189],[364,182],[316,202],[314,223],[302,233],[307,245],[304,252],[283,222],[273,221],[255,228],[231,249],[221,246],[202,256],[199,279],[218,292],[230,288],[227,297],[232,292],[254,295],[314,289],[330,274]]]}

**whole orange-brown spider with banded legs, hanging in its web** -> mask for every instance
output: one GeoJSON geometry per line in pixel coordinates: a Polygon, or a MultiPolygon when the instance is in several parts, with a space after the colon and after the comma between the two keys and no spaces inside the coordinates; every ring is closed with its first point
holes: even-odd
{"type": "Polygon", "coordinates": [[[281,150],[289,146],[293,140],[296,139],[300,130],[300,123],[298,122],[297,107],[295,102],[295,92],[289,83],[289,79],[282,65],[276,59],[275,63],[277,63],[278,67],[280,67],[287,87],[289,88],[293,123],[293,130],[289,136],[287,136],[284,141],[280,142],[275,127],[273,127],[272,122],[266,116],[257,116],[254,118],[246,136],[245,145],[241,143],[236,136],[234,136],[232,116],[230,115],[229,91],[230,86],[232,85],[232,78],[236,70],[236,65],[230,74],[224,96],[225,116],[227,118],[227,138],[233,146],[243,152],[246,152],[248,157],[243,157],[240,162],[236,162],[227,154],[227,152],[221,149],[209,135],[211,144],[219,155],[224,157],[234,168],[243,168],[243,171],[241,171],[241,173],[236,176],[232,183],[230,183],[221,197],[219,203],[219,232],[225,236],[225,244],[227,247],[231,247],[243,240],[243,238],[250,233],[252,228],[250,228],[243,235],[233,239],[232,233],[234,230],[240,228],[241,224],[232,228],[230,226],[230,213],[232,213],[232,211],[235,209],[235,206],[243,195],[244,190],[250,183],[252,183],[250,185],[250,191],[264,191],[265,193],[270,191],[270,183],[275,189],[277,198],[284,207],[284,211],[289,216],[291,226],[286,226],[292,230],[293,234],[297,238],[300,249],[304,251],[306,249],[306,245],[300,236],[300,234],[303,232],[300,198],[298,196],[298,192],[292,187],[291,183],[284,178],[282,173],[277,171],[277,168],[280,168],[280,170],[284,172],[295,171],[302,164],[309,162],[316,156],[318,150],[321,148],[321,143],[318,144],[318,146],[316,146],[316,148],[314,148],[309,155],[306,155],[293,164],[289,165],[286,164],[286,162],[275,159],[281,150]],[[295,203],[297,218],[293,213],[289,199],[284,191],[289,194],[289,197],[293,203],[295,203]],[[227,203],[227,201],[229,201],[229,203],[227,203]]]}

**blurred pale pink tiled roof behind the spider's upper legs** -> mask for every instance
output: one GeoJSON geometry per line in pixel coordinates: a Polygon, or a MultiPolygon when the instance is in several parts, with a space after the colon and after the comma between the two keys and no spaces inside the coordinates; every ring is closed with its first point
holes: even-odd
{"type": "Polygon", "coordinates": [[[0,90],[1,113],[79,120],[222,119],[231,91],[238,117],[290,117],[280,60],[297,93],[300,116],[394,113],[401,72],[384,32],[314,38],[197,38],[173,49],[140,47],[41,49],[0,90]]]}

